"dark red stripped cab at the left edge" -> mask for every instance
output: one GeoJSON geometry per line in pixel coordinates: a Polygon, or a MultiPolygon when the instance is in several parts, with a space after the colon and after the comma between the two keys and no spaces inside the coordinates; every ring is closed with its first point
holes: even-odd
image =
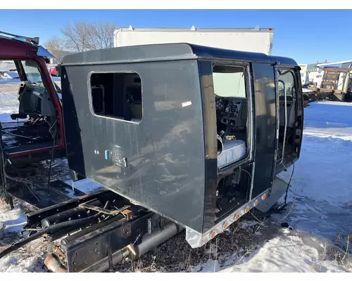
{"type": "Polygon", "coordinates": [[[61,89],[46,66],[53,57],[39,46],[39,38],[0,31],[0,60],[13,60],[20,77],[18,113],[12,122],[0,122],[0,155],[7,164],[65,156],[61,89]]]}

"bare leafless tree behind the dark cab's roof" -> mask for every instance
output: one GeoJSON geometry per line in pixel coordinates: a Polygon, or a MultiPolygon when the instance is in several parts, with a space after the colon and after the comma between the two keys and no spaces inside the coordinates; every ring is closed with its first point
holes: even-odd
{"type": "Polygon", "coordinates": [[[113,47],[113,32],[117,25],[111,22],[76,22],[66,25],[61,32],[78,52],[113,47]]]}

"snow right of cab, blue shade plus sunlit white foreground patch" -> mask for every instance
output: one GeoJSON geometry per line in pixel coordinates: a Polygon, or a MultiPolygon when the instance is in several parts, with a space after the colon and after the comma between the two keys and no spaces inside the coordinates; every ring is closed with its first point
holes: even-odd
{"type": "MultiPolygon", "coordinates": [[[[259,249],[237,262],[229,258],[220,272],[351,272],[352,254],[352,104],[310,103],[305,109],[301,157],[294,167],[284,214],[271,226],[289,223],[259,249]],[[348,235],[350,235],[348,237],[348,235]],[[347,241],[349,251],[346,254],[347,241]],[[326,260],[324,260],[326,259],[326,260]],[[345,263],[339,263],[344,259],[345,263]],[[347,262],[346,262],[347,261],[347,262]]],[[[289,181],[293,166],[280,174],[289,181]]],[[[283,201],[283,198],[280,200],[283,201]]],[[[268,238],[269,237],[269,238],[268,238]]],[[[214,271],[214,261],[201,266],[214,271]]]]}

